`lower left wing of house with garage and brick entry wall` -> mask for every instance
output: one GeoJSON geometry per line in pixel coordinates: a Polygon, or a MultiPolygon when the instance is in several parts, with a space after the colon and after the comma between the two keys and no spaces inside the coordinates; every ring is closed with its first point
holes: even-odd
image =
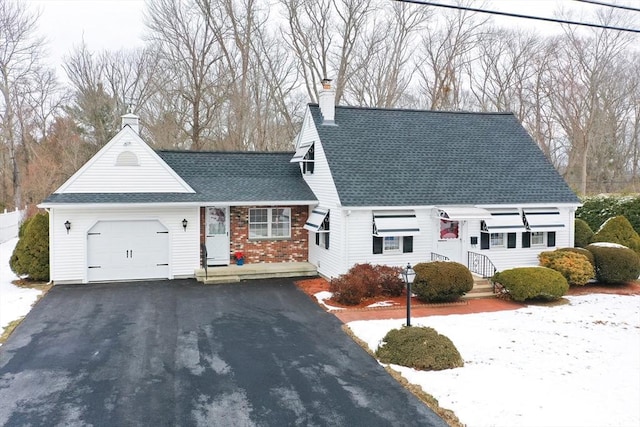
{"type": "Polygon", "coordinates": [[[291,153],[154,151],[138,118],[49,196],[55,283],[194,277],[229,265],[303,262],[317,204],[291,153]]]}

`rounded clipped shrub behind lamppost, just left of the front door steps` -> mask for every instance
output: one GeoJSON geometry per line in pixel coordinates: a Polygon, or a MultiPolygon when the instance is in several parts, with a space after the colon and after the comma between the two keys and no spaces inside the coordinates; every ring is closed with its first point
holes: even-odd
{"type": "Polygon", "coordinates": [[[455,301],[473,288],[471,272],[457,262],[422,262],[413,269],[416,277],[412,290],[420,301],[455,301]]]}

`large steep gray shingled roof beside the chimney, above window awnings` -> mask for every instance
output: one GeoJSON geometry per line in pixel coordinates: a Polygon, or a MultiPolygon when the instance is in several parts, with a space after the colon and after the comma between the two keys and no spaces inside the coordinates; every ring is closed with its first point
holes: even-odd
{"type": "Polygon", "coordinates": [[[309,108],[343,206],[580,203],[513,114],[309,108]]]}

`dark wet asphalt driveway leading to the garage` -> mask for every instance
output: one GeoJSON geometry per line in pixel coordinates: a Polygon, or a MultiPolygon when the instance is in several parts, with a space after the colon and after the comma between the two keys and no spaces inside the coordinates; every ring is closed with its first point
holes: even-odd
{"type": "Polygon", "coordinates": [[[0,425],[445,426],[290,280],[55,286],[0,347],[0,425]]]}

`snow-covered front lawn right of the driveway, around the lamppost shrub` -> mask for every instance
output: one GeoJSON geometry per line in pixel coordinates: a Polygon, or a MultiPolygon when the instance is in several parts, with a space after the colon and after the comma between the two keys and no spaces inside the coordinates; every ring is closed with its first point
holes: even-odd
{"type": "MultiPolygon", "coordinates": [[[[413,319],[449,337],[465,366],[392,366],[467,426],[640,426],[640,296],[413,319]]],[[[371,349],[403,320],[349,323],[371,349]]]]}

